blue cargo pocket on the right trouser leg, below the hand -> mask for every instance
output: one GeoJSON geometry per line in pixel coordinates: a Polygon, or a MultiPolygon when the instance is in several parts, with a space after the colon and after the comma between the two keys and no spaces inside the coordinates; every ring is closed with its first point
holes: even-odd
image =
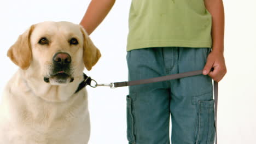
{"type": "Polygon", "coordinates": [[[198,101],[196,144],[213,144],[215,137],[214,100],[198,101]]]}

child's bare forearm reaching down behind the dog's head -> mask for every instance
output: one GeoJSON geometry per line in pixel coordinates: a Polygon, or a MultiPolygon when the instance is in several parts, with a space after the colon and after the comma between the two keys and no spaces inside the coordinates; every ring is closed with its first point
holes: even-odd
{"type": "Polygon", "coordinates": [[[110,9],[113,7],[115,0],[92,0],[89,4],[86,13],[80,25],[82,25],[88,35],[90,35],[94,29],[100,25],[104,18],[109,13],[110,9]]]}

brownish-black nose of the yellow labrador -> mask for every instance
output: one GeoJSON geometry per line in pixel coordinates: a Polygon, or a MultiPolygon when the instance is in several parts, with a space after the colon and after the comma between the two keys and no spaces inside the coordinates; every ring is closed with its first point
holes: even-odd
{"type": "Polygon", "coordinates": [[[57,52],[53,57],[55,64],[69,64],[71,63],[71,56],[66,52],[57,52]]]}

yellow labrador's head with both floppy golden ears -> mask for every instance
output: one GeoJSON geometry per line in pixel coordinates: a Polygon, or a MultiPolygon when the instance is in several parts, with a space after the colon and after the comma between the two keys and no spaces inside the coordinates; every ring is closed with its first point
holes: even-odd
{"type": "Polygon", "coordinates": [[[8,50],[11,61],[31,69],[51,85],[66,85],[91,70],[101,57],[80,25],[71,22],[42,22],[32,25],[8,50]]]}

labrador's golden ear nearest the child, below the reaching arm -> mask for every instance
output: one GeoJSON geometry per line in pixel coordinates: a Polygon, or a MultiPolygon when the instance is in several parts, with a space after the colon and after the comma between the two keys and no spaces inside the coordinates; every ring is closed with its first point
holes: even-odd
{"type": "Polygon", "coordinates": [[[101,52],[97,49],[94,43],[92,43],[91,39],[82,26],[80,26],[80,30],[82,31],[84,37],[84,65],[87,70],[91,70],[92,66],[94,66],[98,62],[98,59],[100,59],[101,52]]]}

